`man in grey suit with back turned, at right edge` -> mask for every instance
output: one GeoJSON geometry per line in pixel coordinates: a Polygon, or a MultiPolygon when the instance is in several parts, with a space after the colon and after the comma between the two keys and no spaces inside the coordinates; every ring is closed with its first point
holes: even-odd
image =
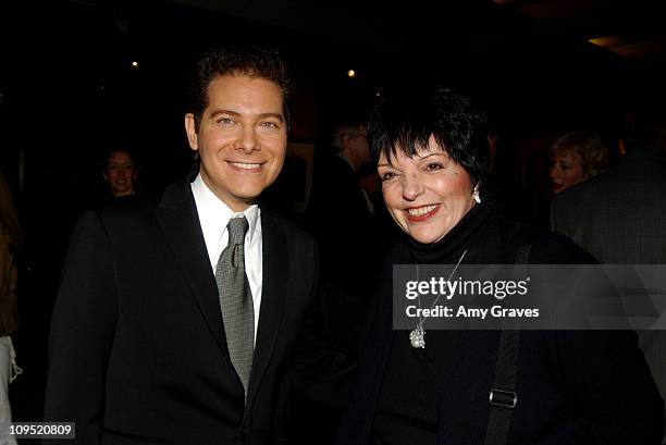
{"type": "MultiPolygon", "coordinates": [[[[609,171],[558,194],[551,224],[601,263],[666,263],[666,153],[653,120],[630,119],[609,171]]],[[[666,335],[639,332],[654,380],[666,399],[666,335]]],[[[666,437],[665,437],[666,438],[666,437]]]]}

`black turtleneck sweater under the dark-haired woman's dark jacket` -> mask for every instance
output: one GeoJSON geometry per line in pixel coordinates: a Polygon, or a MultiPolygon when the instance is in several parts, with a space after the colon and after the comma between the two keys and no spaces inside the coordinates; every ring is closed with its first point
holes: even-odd
{"type": "MultiPolygon", "coordinates": [[[[454,268],[466,249],[464,262],[473,261],[478,257],[474,236],[488,224],[491,214],[490,206],[476,206],[437,243],[424,245],[405,239],[394,248],[392,262],[451,263],[454,268]]],[[[435,382],[457,337],[457,331],[428,331],[428,347],[415,349],[409,332],[396,332],[372,428],[378,445],[436,443],[440,390],[435,382]]]]}

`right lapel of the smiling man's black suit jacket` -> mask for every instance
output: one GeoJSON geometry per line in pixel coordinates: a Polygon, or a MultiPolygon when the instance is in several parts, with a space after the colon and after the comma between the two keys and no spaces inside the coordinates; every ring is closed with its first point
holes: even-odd
{"type": "Polygon", "coordinates": [[[262,291],[259,329],[250,375],[248,401],[255,396],[270,362],[287,292],[288,255],[280,221],[270,210],[261,208],[262,232],[262,291]]]}

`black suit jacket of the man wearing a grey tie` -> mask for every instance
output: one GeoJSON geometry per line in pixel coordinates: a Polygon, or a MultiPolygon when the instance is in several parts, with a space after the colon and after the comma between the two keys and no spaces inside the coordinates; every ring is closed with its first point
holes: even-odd
{"type": "Polygon", "coordinates": [[[246,407],[189,182],[81,218],[52,318],[45,409],[46,420],[76,422],[67,444],[279,440],[295,357],[307,369],[324,348],[310,329],[320,325],[311,317],[313,243],[266,208],[261,225],[263,291],[246,407]]]}

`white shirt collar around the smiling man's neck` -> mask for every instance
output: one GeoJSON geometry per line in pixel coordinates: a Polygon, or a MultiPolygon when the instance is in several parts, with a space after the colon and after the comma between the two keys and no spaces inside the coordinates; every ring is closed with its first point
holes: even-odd
{"type": "Polygon", "coordinates": [[[224,201],[218,198],[210,188],[208,188],[201,177],[201,173],[197,174],[197,177],[192,183],[192,193],[197,203],[197,211],[199,212],[199,220],[201,221],[205,234],[217,234],[219,239],[224,233],[229,220],[244,214],[249,224],[247,231],[247,235],[249,235],[248,242],[252,242],[252,237],[257,230],[257,222],[259,221],[259,206],[252,205],[243,212],[234,212],[224,201]]]}

